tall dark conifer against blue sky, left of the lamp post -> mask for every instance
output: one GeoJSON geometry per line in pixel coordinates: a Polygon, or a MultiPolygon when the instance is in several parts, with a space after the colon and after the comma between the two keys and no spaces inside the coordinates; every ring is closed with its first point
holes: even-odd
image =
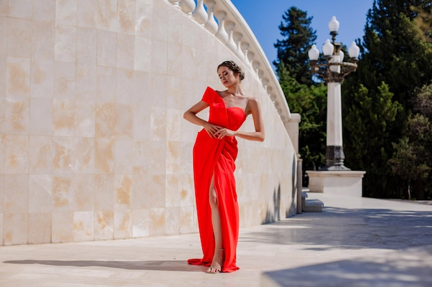
{"type": "Polygon", "coordinates": [[[317,39],[316,31],[310,26],[313,17],[307,17],[306,12],[291,7],[284,12],[282,19],[279,30],[284,39],[274,44],[277,59],[273,65],[277,75],[288,71],[298,83],[313,85],[308,69],[308,50],[317,39]],[[284,67],[281,67],[282,64],[284,67]]]}

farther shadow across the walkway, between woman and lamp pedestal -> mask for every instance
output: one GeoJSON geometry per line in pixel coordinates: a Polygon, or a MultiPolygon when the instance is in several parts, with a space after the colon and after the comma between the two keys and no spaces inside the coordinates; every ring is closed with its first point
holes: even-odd
{"type": "Polygon", "coordinates": [[[239,242],[306,244],[316,251],[330,248],[401,249],[431,244],[432,212],[325,207],[320,216],[302,213],[245,232],[239,242]]]}

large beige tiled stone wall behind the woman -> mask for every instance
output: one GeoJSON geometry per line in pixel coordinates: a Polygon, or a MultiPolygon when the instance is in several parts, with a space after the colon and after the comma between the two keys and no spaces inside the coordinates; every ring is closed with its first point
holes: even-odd
{"type": "MultiPolygon", "coordinates": [[[[182,115],[232,52],[166,0],[3,0],[0,39],[0,245],[197,232],[182,115]]],[[[295,212],[296,156],[253,72],[243,87],[266,124],[239,139],[251,226],[295,212]]]]}

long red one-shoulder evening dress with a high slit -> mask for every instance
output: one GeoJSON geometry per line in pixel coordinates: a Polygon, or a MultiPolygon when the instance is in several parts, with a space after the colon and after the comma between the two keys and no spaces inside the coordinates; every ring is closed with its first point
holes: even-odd
{"type": "MultiPolygon", "coordinates": [[[[227,108],[222,97],[210,87],[207,87],[202,100],[210,105],[208,122],[213,125],[236,131],[246,120],[242,108],[227,108]]],[[[199,236],[204,256],[202,259],[189,259],[189,264],[210,266],[215,253],[209,203],[210,182],[214,175],[222,228],[222,248],[224,248],[222,272],[233,272],[239,269],[236,265],[239,206],[235,191],[235,158],[237,158],[237,140],[234,136],[226,136],[218,140],[210,138],[205,129],[199,131],[193,147],[193,176],[199,236]]]]}

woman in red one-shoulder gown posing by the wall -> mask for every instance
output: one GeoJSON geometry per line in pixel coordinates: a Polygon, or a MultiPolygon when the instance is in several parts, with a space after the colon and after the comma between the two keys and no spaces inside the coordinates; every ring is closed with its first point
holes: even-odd
{"type": "Polygon", "coordinates": [[[239,234],[239,206],[235,191],[237,140],[264,140],[264,123],[256,98],[245,96],[240,82],[244,73],[233,61],[217,67],[224,91],[207,87],[202,100],[190,107],[184,118],[201,125],[193,148],[193,173],[202,259],[189,264],[209,266],[207,273],[233,272],[239,234]],[[197,117],[210,107],[208,121],[197,117]],[[238,131],[252,114],[255,131],[238,131]]]}

